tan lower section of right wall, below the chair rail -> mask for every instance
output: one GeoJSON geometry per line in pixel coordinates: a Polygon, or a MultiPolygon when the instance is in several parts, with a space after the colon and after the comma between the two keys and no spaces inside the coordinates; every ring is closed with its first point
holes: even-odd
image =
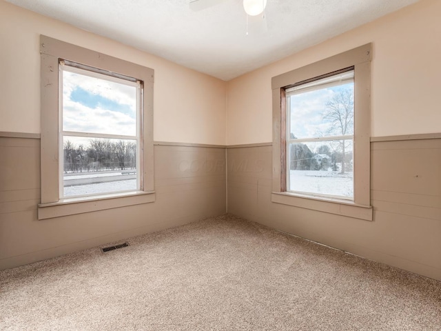
{"type": "Polygon", "coordinates": [[[441,280],[441,139],[371,143],[373,221],[271,203],[271,161],[228,148],[228,212],[441,280]]]}

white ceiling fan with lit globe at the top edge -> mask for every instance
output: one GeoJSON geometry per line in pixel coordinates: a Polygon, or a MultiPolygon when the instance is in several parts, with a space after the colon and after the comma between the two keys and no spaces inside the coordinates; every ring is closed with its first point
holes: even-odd
{"type": "MultiPolygon", "coordinates": [[[[225,1],[227,0],[189,0],[189,8],[197,12],[225,1]]],[[[247,14],[247,35],[267,32],[266,6],[267,0],[243,0],[243,9],[247,14]]]]}

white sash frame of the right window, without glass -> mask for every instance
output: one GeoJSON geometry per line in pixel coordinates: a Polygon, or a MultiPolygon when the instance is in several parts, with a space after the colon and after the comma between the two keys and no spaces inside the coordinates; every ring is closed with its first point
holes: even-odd
{"type": "MultiPolygon", "coordinates": [[[[342,70],[342,72],[338,72],[338,73],[334,73],[331,74],[329,77],[317,77],[316,79],[312,80],[312,81],[308,81],[307,83],[298,83],[298,85],[292,87],[292,88],[287,88],[285,89],[285,95],[286,95],[286,99],[287,99],[287,114],[286,114],[286,125],[287,125],[287,130],[286,130],[286,164],[287,166],[285,167],[285,170],[287,172],[286,174],[286,179],[287,179],[287,184],[286,184],[286,190],[287,192],[292,192],[294,194],[305,194],[305,195],[309,195],[311,197],[328,197],[328,198],[333,198],[333,199],[342,199],[342,200],[349,200],[349,201],[353,201],[353,197],[345,197],[345,196],[340,196],[340,195],[331,195],[331,194],[320,194],[318,192],[301,192],[298,190],[294,190],[292,189],[291,186],[291,180],[290,180],[290,148],[289,145],[291,143],[313,143],[313,142],[318,142],[318,141],[335,141],[335,140],[351,140],[352,143],[353,141],[353,134],[345,134],[345,135],[328,135],[328,136],[323,136],[323,137],[318,137],[318,136],[314,136],[314,137],[306,137],[306,138],[298,138],[298,139],[291,139],[290,135],[291,135],[291,102],[290,101],[290,97],[292,95],[295,94],[301,94],[303,92],[311,92],[314,90],[320,90],[323,88],[328,88],[331,86],[338,86],[338,82],[344,82],[344,81],[352,81],[354,82],[355,79],[353,77],[353,68],[347,68],[342,70]],[[351,76],[348,77],[347,72],[352,72],[351,76]],[[325,80],[329,80],[329,78],[331,77],[341,77],[338,82],[336,81],[336,79],[333,79],[331,82],[324,82],[324,83],[320,83],[320,81],[325,81],[325,80]]],[[[352,182],[353,185],[353,182],[352,182]]]]}

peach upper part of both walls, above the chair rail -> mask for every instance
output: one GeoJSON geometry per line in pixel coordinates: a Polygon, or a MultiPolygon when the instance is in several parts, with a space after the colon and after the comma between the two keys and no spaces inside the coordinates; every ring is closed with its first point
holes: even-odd
{"type": "Polygon", "coordinates": [[[0,132],[40,132],[39,34],[153,68],[156,141],[269,142],[271,77],[368,42],[372,137],[441,132],[440,12],[441,1],[420,1],[227,84],[0,1],[0,132]]]}

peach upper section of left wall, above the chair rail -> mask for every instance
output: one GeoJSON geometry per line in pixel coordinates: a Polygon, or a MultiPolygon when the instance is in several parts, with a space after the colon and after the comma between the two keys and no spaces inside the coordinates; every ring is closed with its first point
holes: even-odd
{"type": "Polygon", "coordinates": [[[225,145],[224,81],[4,1],[0,1],[0,132],[40,132],[40,34],[154,69],[156,141],[225,145]]]}

